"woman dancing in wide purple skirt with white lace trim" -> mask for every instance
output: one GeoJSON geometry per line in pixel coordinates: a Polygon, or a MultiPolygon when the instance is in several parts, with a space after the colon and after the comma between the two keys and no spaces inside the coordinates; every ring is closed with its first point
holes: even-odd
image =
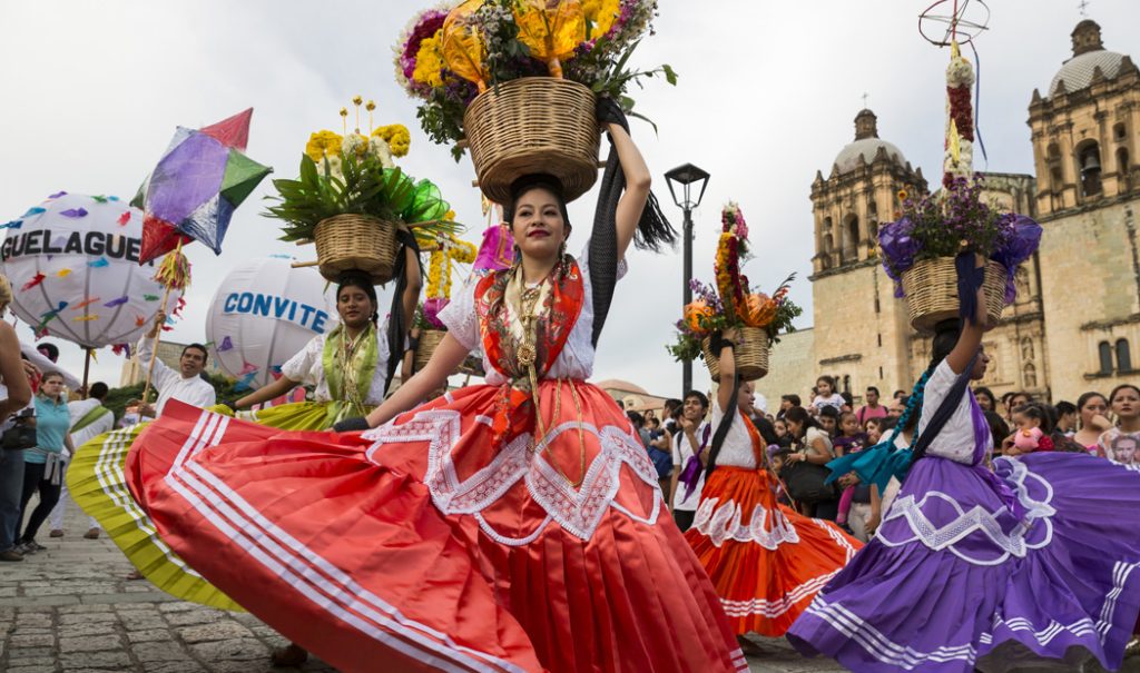
{"type": "Polygon", "coordinates": [[[860,673],[1118,668],[1140,613],[1140,473],[1062,452],[986,469],[992,437],[968,387],[988,360],[985,304],[971,279],[980,266],[962,261],[963,296],[974,288],[963,314],[975,319],[939,326],[907,409],[920,413],[914,446],[880,444],[834,466],[880,489],[899,476],[902,487],[788,639],[860,673]]]}

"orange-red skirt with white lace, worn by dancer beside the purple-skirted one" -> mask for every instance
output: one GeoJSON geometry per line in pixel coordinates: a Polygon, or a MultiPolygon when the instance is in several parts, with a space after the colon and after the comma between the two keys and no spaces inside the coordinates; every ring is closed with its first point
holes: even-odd
{"type": "Polygon", "coordinates": [[[862,543],[776,502],[764,469],[717,467],[685,539],[738,634],[780,637],[862,543]]]}

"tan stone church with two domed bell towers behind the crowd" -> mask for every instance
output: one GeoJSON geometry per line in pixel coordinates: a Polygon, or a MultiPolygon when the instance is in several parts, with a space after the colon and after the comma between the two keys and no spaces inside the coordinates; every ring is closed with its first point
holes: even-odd
{"type": "MultiPolygon", "coordinates": [[[[982,385],[1069,400],[1119,383],[1140,384],[1140,69],[1108,51],[1100,26],[1073,31],[1073,57],[1048,91],[1034,90],[1028,125],[1036,175],[986,173],[986,196],[1037,220],[1037,254],[1019,270],[1017,301],[985,338],[992,362],[982,385]]],[[[772,374],[757,381],[773,408],[805,399],[820,375],[856,400],[868,386],[907,392],[929,363],[929,338],[910,329],[906,306],[878,257],[878,228],[899,191],[928,192],[920,169],[879,138],[874,113],[855,117],[855,140],[817,172],[813,328],[782,337],[772,374]]]]}

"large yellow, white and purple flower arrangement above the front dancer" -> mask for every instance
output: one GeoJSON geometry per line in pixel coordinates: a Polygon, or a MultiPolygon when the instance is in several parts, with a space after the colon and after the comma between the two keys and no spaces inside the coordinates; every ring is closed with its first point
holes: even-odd
{"type": "MultiPolygon", "coordinates": [[[[397,81],[421,99],[417,116],[435,142],[463,139],[463,113],[488,87],[549,75],[589,87],[633,114],[626,92],[668,65],[632,69],[642,36],[652,34],[657,0],[466,0],[413,17],[396,44],[397,81]]],[[[640,115],[634,115],[640,116],[640,115]]],[[[456,158],[462,148],[455,147],[456,158]]]]}

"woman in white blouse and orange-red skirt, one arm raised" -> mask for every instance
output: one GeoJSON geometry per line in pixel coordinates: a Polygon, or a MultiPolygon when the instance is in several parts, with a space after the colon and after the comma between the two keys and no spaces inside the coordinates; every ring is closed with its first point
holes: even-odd
{"type": "Polygon", "coordinates": [[[780,637],[861,547],[832,522],[776,502],[765,446],[749,420],[752,384],[735,381],[735,330],[714,339],[720,387],[712,449],[693,527],[685,533],[738,635],[780,637]]]}

